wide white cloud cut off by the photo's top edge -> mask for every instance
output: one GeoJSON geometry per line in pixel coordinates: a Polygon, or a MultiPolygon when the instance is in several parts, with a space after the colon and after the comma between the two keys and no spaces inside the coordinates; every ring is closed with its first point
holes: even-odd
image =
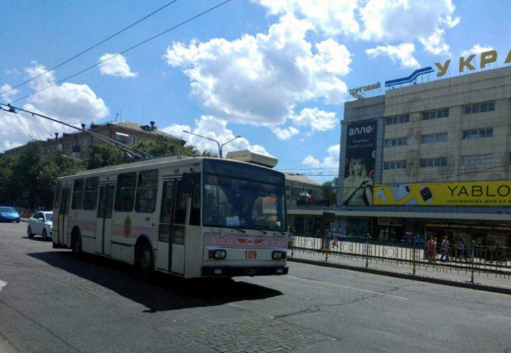
{"type": "Polygon", "coordinates": [[[452,0],[252,0],[272,15],[294,14],[327,36],[411,43],[426,52],[449,54],[444,31],[457,25],[452,0]]]}

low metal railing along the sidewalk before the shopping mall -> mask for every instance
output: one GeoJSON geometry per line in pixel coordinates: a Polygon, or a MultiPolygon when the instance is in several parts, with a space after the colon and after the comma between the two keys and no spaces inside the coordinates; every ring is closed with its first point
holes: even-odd
{"type": "Polygon", "coordinates": [[[392,266],[409,268],[410,273],[421,275],[425,271],[443,271],[448,273],[465,273],[470,275],[474,283],[475,276],[489,276],[511,279],[511,248],[479,247],[473,249],[467,245],[464,251],[451,245],[449,260],[442,258],[442,251],[429,254],[426,244],[409,244],[403,242],[381,242],[361,238],[340,238],[335,243],[331,238],[311,238],[292,236],[289,244],[291,257],[294,253],[309,253],[318,255],[326,262],[344,262],[366,268],[382,266],[388,269],[392,266]]]}

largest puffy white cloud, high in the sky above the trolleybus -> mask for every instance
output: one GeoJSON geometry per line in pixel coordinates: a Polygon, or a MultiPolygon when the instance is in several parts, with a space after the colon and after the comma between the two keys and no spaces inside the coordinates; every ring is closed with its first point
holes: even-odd
{"type": "Polygon", "coordinates": [[[329,39],[313,51],[307,21],[285,15],[268,34],[235,41],[213,39],[174,43],[164,58],[191,81],[191,96],[212,115],[228,122],[278,126],[300,102],[344,102],[351,58],[344,45],[329,39]]]}

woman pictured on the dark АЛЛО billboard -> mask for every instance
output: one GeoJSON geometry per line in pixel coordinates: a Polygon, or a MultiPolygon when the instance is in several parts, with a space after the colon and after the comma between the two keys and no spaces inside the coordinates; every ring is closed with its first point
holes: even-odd
{"type": "Polygon", "coordinates": [[[353,158],[349,164],[349,175],[344,178],[343,205],[372,205],[372,180],[361,158],[353,158]]]}

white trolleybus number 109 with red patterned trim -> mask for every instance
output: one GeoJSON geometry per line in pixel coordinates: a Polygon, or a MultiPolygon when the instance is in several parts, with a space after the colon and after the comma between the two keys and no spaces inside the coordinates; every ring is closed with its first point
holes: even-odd
{"type": "Polygon", "coordinates": [[[172,159],[59,178],[54,247],[134,264],[145,277],[287,274],[284,174],[233,159],[172,159]]]}

